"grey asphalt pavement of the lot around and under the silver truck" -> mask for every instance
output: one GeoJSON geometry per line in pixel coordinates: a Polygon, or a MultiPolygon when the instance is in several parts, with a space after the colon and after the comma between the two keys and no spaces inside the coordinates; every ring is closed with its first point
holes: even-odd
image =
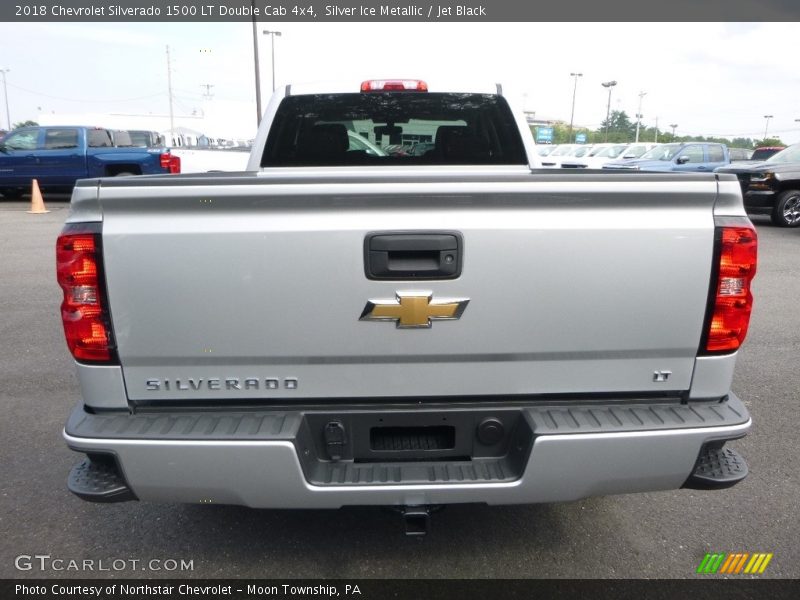
{"type": "Polygon", "coordinates": [[[68,204],[48,200],[45,215],[27,208],[0,199],[0,578],[693,578],[706,552],[772,552],[762,577],[800,577],[800,469],[792,462],[800,447],[800,230],[754,219],[756,305],[734,382],[754,423],[734,445],[750,466],[743,483],[450,506],[420,540],[379,508],[102,505],[70,494],[66,477],[79,456],[61,430],[80,392],[54,266],[68,204]],[[36,555],[50,558],[25,558],[36,555]],[[69,561],[87,560],[93,570],[71,569],[69,561]],[[192,568],[171,570],[181,561],[192,568]]]}

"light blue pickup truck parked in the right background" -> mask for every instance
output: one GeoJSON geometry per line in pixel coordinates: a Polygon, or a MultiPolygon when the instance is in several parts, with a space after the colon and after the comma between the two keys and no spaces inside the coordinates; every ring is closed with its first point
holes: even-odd
{"type": "Polygon", "coordinates": [[[639,158],[608,162],[603,168],[711,173],[717,167],[728,165],[730,162],[730,153],[724,144],[684,142],[661,144],[639,158]]]}

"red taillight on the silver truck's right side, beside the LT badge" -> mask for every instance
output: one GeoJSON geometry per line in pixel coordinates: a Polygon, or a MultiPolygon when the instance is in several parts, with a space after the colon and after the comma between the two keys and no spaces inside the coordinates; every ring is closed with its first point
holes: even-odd
{"type": "Polygon", "coordinates": [[[733,352],[742,345],[750,324],[758,238],[752,225],[724,226],[719,233],[717,289],[708,319],[706,352],[733,352]]]}

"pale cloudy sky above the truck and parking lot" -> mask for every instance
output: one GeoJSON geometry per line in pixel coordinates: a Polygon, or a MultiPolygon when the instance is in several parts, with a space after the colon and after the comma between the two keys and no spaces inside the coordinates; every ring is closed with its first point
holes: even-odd
{"type": "MultiPolygon", "coordinates": [[[[800,141],[798,23],[280,23],[278,84],[415,77],[501,82],[537,118],[605,118],[603,81],[616,80],[611,108],[658,118],[677,133],[800,141]]],[[[260,35],[264,105],[270,44],[260,35]]],[[[0,23],[12,122],[39,113],[168,113],[165,47],[172,54],[175,113],[229,113],[232,136],[255,131],[251,25],[247,23],[0,23]],[[212,85],[212,100],[203,98],[212,85]],[[213,112],[213,111],[212,111],[213,112]]],[[[0,123],[6,115],[0,108],[0,123]]],[[[252,137],[252,136],[249,136],[252,137]]]]}

